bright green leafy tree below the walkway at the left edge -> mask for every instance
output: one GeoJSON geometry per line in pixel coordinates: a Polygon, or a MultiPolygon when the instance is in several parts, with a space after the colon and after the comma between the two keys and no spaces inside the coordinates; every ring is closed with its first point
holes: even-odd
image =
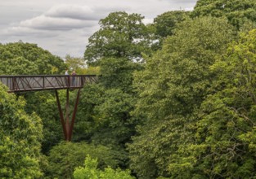
{"type": "Polygon", "coordinates": [[[41,119],[25,113],[25,100],[0,84],[0,177],[39,178],[41,119]]]}

